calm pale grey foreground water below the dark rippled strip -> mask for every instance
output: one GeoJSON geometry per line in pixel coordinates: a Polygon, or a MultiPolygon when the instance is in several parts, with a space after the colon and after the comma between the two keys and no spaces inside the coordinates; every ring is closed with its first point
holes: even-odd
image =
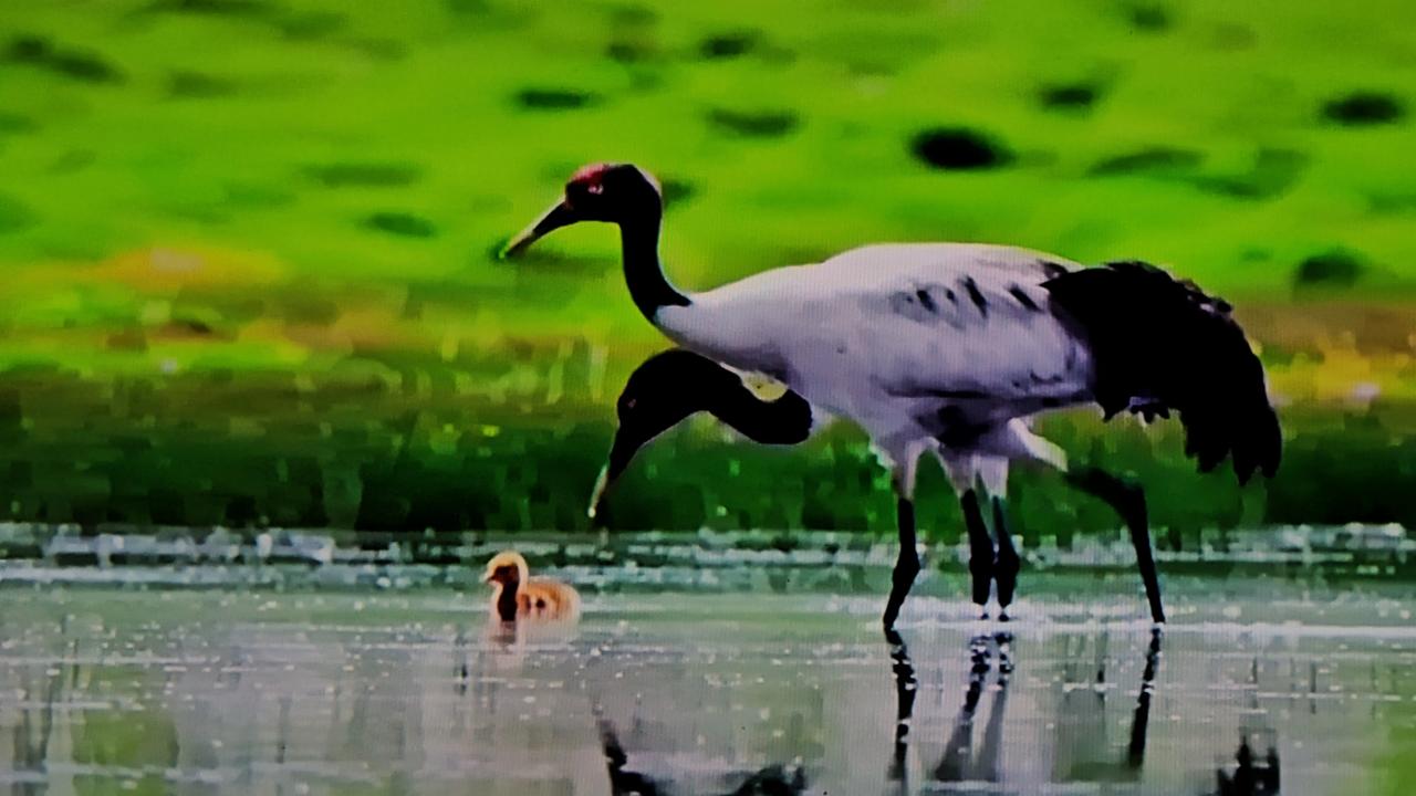
{"type": "Polygon", "coordinates": [[[932,585],[906,606],[908,659],[877,595],[606,591],[573,629],[508,636],[480,591],[11,586],[0,776],[603,795],[613,738],[622,778],[663,793],[733,793],[773,765],[806,793],[1209,793],[1242,737],[1273,746],[1286,795],[1410,776],[1408,586],[1172,578],[1157,637],[1134,584],[1034,572],[1000,649],[1003,625],[932,585]]]}

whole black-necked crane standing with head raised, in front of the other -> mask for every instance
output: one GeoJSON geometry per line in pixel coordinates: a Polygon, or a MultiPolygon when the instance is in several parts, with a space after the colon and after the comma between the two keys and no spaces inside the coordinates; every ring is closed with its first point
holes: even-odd
{"type": "MultiPolygon", "coordinates": [[[[925,452],[939,457],[963,506],[980,606],[994,569],[1015,581],[1018,561],[1004,554],[1012,544],[1001,524],[1000,550],[988,540],[978,486],[998,518],[1010,462],[1068,470],[1065,453],[1032,433],[1032,415],[1086,404],[1107,418],[1174,409],[1202,472],[1226,457],[1240,483],[1277,470],[1279,419],[1229,305],[1158,268],[1085,268],[1001,245],[878,244],[684,293],[658,261],[658,184],[633,164],[576,171],[504,254],[582,221],[619,227],[630,297],[670,340],[763,373],[871,436],[891,470],[901,542],[886,627],[919,574],[913,493],[925,452]]],[[[1126,517],[1151,619],[1164,622],[1140,489],[1096,469],[1069,480],[1126,517]]]]}

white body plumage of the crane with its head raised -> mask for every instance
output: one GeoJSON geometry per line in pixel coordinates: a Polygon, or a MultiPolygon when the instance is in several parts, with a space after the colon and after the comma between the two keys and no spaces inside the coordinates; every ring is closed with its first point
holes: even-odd
{"type": "Polygon", "coordinates": [[[981,479],[1001,494],[1008,459],[1065,467],[1022,418],[1090,401],[1086,343],[1041,286],[1073,268],[1012,246],[882,244],[692,293],[653,320],[860,423],[906,494],[925,450],[956,490],[981,479]]]}

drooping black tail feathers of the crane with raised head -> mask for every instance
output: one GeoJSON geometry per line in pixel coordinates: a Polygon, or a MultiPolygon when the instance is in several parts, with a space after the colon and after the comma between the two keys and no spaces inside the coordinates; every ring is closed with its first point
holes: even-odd
{"type": "Polygon", "coordinates": [[[1263,365],[1231,306],[1143,262],[1113,262],[1045,283],[1052,306],[1087,337],[1093,392],[1107,419],[1180,412],[1185,453],[1211,472],[1233,459],[1239,483],[1273,477],[1283,435],[1263,365]]]}

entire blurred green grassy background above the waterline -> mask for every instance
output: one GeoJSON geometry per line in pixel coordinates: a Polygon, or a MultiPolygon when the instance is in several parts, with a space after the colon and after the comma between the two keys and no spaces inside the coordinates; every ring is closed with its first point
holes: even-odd
{"type": "MultiPolygon", "coordinates": [[[[1174,423],[1045,431],[1144,477],[1161,545],[1412,524],[1413,86],[1398,0],[0,0],[0,518],[586,528],[667,343],[609,228],[491,252],[630,160],[685,288],[946,239],[1194,278],[1262,346],[1279,477],[1197,474],[1174,423]]],[[[886,531],[886,486],[852,428],[700,419],[610,523],[886,531]]],[[[1116,525],[1014,486],[1029,541],[1116,525]]]]}

